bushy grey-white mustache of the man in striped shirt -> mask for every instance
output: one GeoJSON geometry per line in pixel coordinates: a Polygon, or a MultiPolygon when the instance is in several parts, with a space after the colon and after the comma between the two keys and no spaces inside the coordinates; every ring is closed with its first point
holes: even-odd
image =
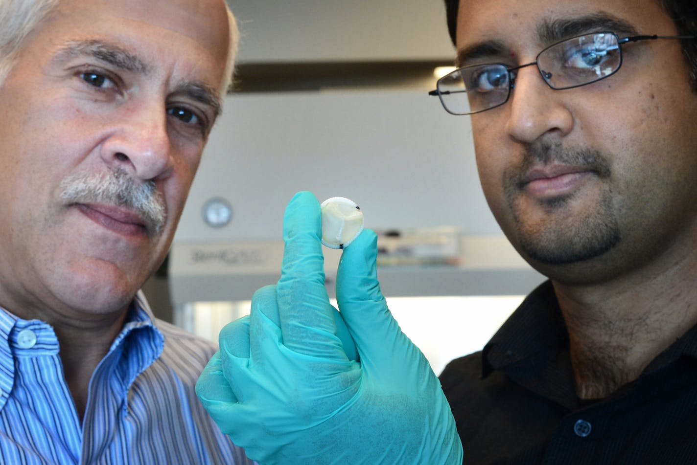
{"type": "Polygon", "coordinates": [[[158,235],[167,219],[155,182],[134,180],[123,170],[70,175],[63,179],[59,191],[67,205],[101,203],[128,208],[140,216],[151,235],[158,235]]]}

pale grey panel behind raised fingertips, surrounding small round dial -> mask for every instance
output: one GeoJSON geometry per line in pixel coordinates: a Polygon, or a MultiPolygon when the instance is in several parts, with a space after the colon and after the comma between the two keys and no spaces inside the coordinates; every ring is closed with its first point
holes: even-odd
{"type": "Polygon", "coordinates": [[[423,90],[374,90],[227,97],[176,241],[277,239],[300,190],[352,198],[369,228],[501,234],[477,178],[469,118],[423,90]],[[234,210],[218,230],[201,218],[215,196],[234,210]]]}

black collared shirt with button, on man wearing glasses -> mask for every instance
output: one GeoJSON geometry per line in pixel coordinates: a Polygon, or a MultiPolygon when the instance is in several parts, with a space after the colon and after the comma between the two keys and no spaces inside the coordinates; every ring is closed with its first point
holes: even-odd
{"type": "Polygon", "coordinates": [[[697,326],[636,381],[580,400],[548,281],[441,384],[465,464],[697,464],[697,326]]]}

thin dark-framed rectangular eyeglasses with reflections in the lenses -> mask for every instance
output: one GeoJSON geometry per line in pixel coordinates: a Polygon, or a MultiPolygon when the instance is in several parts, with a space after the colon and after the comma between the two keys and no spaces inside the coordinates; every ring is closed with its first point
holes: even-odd
{"type": "Polygon", "coordinates": [[[539,52],[533,63],[510,68],[500,63],[459,68],[438,79],[436,90],[445,111],[471,115],[500,107],[515,87],[518,70],[537,65],[539,74],[555,90],[585,86],[618,72],[622,45],[654,39],[695,39],[697,36],[633,36],[620,39],[612,32],[596,32],[562,40],[539,52]]]}

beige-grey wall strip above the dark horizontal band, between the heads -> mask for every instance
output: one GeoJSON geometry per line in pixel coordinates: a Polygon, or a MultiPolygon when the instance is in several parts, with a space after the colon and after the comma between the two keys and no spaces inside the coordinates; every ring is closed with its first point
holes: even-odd
{"type": "Polygon", "coordinates": [[[443,0],[228,0],[240,62],[415,61],[454,53],[443,0]]]}

